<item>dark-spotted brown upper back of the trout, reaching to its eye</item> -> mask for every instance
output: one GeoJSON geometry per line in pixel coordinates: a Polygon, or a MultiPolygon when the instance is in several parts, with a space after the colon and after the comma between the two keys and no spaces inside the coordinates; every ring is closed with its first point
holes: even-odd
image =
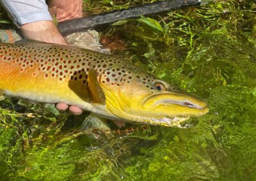
{"type": "MultiPolygon", "coordinates": [[[[31,76],[44,73],[44,78],[79,81],[88,85],[88,71],[95,69],[100,83],[120,86],[141,82],[150,92],[156,91],[157,78],[128,61],[92,50],[50,45],[47,43],[0,44],[0,61],[19,66],[20,72],[31,70],[31,76]]],[[[177,91],[169,87],[170,91],[177,91]]]]}

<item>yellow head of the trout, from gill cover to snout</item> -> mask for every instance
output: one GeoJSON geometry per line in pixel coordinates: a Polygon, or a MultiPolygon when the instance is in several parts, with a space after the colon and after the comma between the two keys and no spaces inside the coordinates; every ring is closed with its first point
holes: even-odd
{"type": "Polygon", "coordinates": [[[109,112],[129,122],[177,126],[208,112],[205,101],[133,66],[116,66],[100,76],[109,112]]]}

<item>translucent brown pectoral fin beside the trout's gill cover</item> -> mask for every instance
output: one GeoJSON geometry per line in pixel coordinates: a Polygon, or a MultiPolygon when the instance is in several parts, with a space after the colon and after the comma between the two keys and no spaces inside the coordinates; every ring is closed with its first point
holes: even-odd
{"type": "Polygon", "coordinates": [[[95,69],[90,69],[88,72],[88,87],[90,90],[91,100],[92,103],[105,105],[106,97],[97,80],[97,74],[98,73],[95,69]]]}

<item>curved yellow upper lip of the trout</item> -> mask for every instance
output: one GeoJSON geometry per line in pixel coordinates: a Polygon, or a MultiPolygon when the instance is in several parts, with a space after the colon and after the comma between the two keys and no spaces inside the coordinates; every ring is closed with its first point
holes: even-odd
{"type": "Polygon", "coordinates": [[[203,99],[192,95],[192,94],[183,94],[183,93],[176,93],[176,92],[163,92],[160,94],[154,94],[152,96],[149,96],[145,101],[142,103],[143,107],[147,108],[154,108],[158,105],[179,105],[179,106],[186,106],[189,108],[195,108],[198,110],[205,110],[207,109],[207,105],[203,99]],[[150,103],[150,101],[153,101],[153,99],[156,99],[157,97],[164,97],[160,98],[158,101],[155,101],[154,103],[150,103]],[[172,99],[170,97],[176,96],[176,99],[172,99]],[[183,99],[179,99],[179,97],[183,97],[183,99]],[[189,100],[191,99],[191,100],[189,100]],[[193,101],[198,101],[200,104],[193,103],[193,101]]]}

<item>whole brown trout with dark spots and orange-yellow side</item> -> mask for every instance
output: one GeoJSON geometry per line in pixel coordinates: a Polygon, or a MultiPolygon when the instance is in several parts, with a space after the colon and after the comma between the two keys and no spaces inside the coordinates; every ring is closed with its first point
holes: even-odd
{"type": "Polygon", "coordinates": [[[122,57],[42,42],[0,43],[1,91],[139,124],[177,126],[209,111],[204,99],[122,57]]]}

